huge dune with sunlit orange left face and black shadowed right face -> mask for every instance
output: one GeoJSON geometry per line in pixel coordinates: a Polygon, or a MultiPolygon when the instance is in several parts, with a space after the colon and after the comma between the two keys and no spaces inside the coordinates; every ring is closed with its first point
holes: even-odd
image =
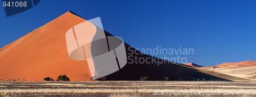
{"type": "MultiPolygon", "coordinates": [[[[65,74],[71,81],[90,81],[88,63],[69,58],[65,38],[70,28],[83,21],[86,19],[68,11],[1,48],[0,79],[25,78],[27,81],[44,81],[45,77],[56,80],[58,75],[65,74]]],[[[113,36],[108,32],[105,32],[105,35],[113,36]]],[[[198,78],[205,78],[208,81],[251,81],[169,61],[159,66],[157,63],[133,63],[132,60],[135,60],[135,57],[144,59],[156,57],[142,54],[127,43],[125,48],[127,64],[106,76],[107,80],[139,80],[140,77],[146,76],[151,80],[163,80],[163,77],[169,77],[169,80],[195,81],[198,78]],[[132,51],[140,54],[131,54],[132,51]]]]}

